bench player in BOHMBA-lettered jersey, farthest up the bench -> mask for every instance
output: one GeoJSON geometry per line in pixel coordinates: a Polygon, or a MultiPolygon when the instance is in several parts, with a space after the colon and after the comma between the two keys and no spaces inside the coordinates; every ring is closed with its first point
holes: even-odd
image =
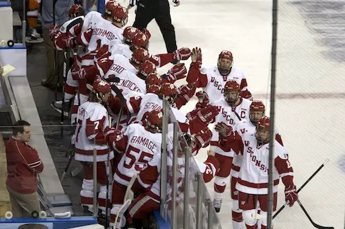
{"type": "MultiPolygon", "coordinates": [[[[63,111],[65,116],[68,116],[68,111],[70,107],[69,101],[77,93],[78,88],[79,94],[75,99],[74,106],[72,107],[71,112],[72,123],[75,122],[75,116],[79,105],[83,104],[83,102],[86,102],[88,100],[88,89],[86,89],[86,83],[88,83],[88,81],[85,79],[73,79],[72,75],[76,74],[76,72],[78,72],[79,69],[81,69],[81,67],[83,66],[90,67],[94,65],[93,58],[95,54],[97,54],[97,45],[99,43],[100,47],[101,44],[101,42],[99,42],[101,40],[94,41],[97,38],[97,36],[92,36],[92,40],[90,40],[90,33],[92,33],[95,29],[95,33],[97,33],[98,31],[99,34],[106,35],[107,33],[101,33],[103,31],[101,31],[101,26],[104,24],[111,25],[112,23],[114,23],[114,25],[112,25],[113,28],[115,28],[115,25],[121,27],[123,21],[126,20],[126,15],[127,14],[125,14],[124,10],[121,11],[121,8],[118,8],[118,3],[115,3],[114,1],[108,1],[108,3],[106,3],[105,17],[103,17],[102,14],[100,14],[99,12],[89,12],[88,14],[86,14],[83,21],[79,23],[77,26],[75,26],[75,29],[73,30],[75,34],[68,34],[66,40],[69,42],[69,44],[75,45],[75,43],[77,43],[77,45],[80,45],[81,47],[79,47],[77,56],[75,56],[75,63],[73,63],[71,70],[68,72],[67,83],[65,87],[65,101],[56,101],[52,104],[52,106],[55,107],[57,111],[63,111]],[[98,26],[100,26],[99,29],[98,26]],[[97,45],[95,45],[95,43],[97,43],[97,45]],[[90,44],[90,46],[86,48],[86,44],[90,44]]],[[[117,30],[121,29],[117,28],[117,30]]],[[[107,37],[110,37],[109,33],[107,37]]],[[[106,41],[107,39],[103,40],[106,41]]]]}

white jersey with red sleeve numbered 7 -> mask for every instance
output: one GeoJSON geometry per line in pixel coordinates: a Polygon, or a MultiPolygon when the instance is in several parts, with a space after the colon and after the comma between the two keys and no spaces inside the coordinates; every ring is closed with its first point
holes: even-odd
{"type": "MultiPolygon", "coordinates": [[[[93,150],[97,149],[97,162],[108,159],[108,146],[104,130],[109,127],[108,112],[98,102],[85,102],[78,109],[75,129],[75,160],[93,162],[93,150]]],[[[114,157],[111,152],[110,159],[114,157]]]]}

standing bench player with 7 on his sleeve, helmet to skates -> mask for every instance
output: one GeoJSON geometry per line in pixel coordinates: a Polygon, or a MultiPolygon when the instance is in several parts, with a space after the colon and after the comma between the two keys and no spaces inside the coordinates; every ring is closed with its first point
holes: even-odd
{"type": "Polygon", "coordinates": [[[109,127],[107,105],[110,96],[110,84],[98,79],[92,85],[90,100],[81,105],[77,114],[75,129],[75,160],[83,165],[83,185],[80,192],[81,205],[85,210],[95,211],[93,206],[93,151],[97,149],[97,182],[101,185],[98,195],[99,209],[106,211],[106,162],[114,153],[108,149],[108,138],[114,134],[109,127]]]}

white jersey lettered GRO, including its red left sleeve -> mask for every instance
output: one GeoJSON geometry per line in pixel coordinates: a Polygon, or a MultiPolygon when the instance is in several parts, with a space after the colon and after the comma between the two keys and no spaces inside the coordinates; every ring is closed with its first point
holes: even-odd
{"type": "Polygon", "coordinates": [[[101,58],[96,65],[99,75],[103,78],[117,77],[124,71],[132,72],[133,74],[138,72],[128,58],[121,54],[113,54],[108,58],[101,58]]]}

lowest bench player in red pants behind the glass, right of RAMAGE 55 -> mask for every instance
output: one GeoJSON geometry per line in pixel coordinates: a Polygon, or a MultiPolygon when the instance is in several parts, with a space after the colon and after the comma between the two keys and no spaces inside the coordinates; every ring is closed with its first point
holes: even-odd
{"type": "MultiPolygon", "coordinates": [[[[206,137],[209,138],[210,136],[206,137]]],[[[210,139],[206,139],[201,133],[197,133],[195,138],[191,137],[188,133],[181,135],[182,140],[179,146],[179,158],[178,158],[178,184],[177,186],[181,189],[181,186],[184,186],[184,164],[181,163],[181,160],[184,160],[184,144],[192,146],[195,144],[197,138],[203,138],[205,142],[208,142],[210,139]],[[185,137],[186,136],[186,137],[185,137]],[[182,145],[182,146],[181,146],[182,145]]],[[[198,149],[201,148],[197,146],[198,149]]],[[[197,150],[198,150],[197,149],[197,150]]],[[[168,169],[171,171],[172,168],[172,151],[168,151],[167,164],[168,169]]],[[[213,151],[208,151],[208,158],[204,163],[198,162],[196,169],[198,169],[204,177],[204,182],[210,182],[211,179],[215,176],[215,173],[218,169],[219,162],[215,158],[215,153],[213,151]]],[[[146,164],[144,169],[139,173],[135,184],[132,186],[132,190],[137,195],[137,198],[132,201],[132,204],[128,208],[128,228],[141,228],[142,221],[148,219],[150,214],[154,210],[159,209],[160,203],[160,172],[161,172],[161,155],[154,155],[152,160],[146,164]]],[[[171,174],[170,174],[171,175],[171,174]]],[[[168,195],[171,195],[171,187],[168,189],[168,195]]],[[[171,200],[170,200],[171,201],[171,200]]],[[[172,204],[172,203],[170,203],[172,204]]],[[[169,204],[169,205],[170,205],[169,204]]]]}

